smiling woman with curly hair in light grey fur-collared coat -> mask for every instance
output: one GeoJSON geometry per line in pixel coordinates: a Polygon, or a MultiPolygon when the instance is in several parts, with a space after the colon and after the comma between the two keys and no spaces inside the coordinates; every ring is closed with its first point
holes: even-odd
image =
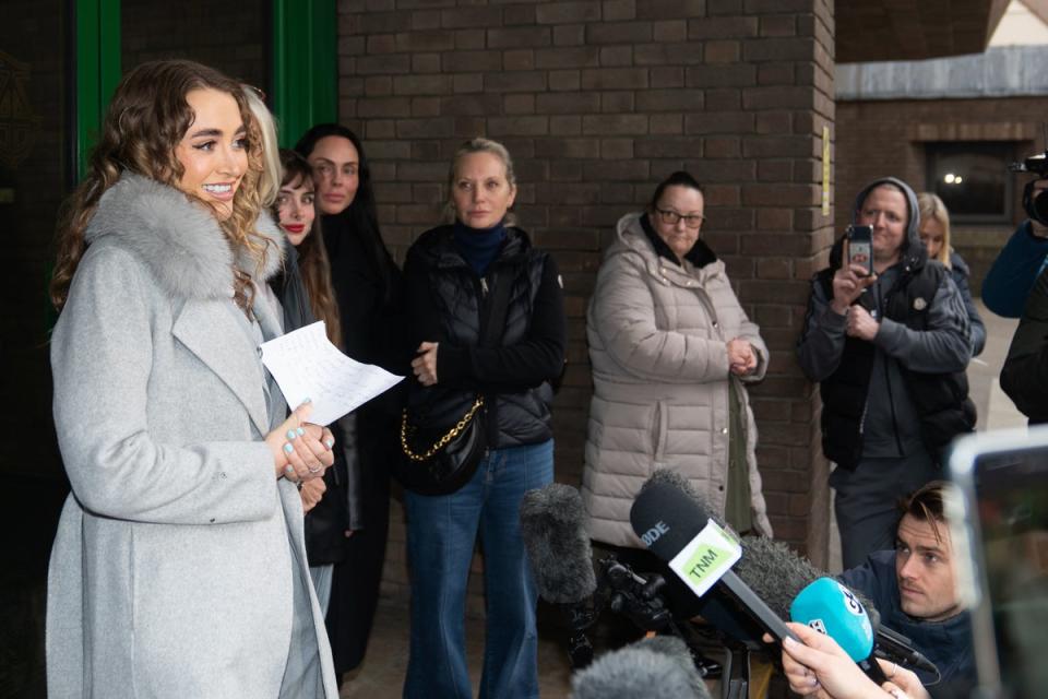
{"type": "Polygon", "coordinates": [[[282,331],[258,144],[236,82],[140,66],[60,224],[52,698],[337,696],[296,488],[333,440],[259,358],[282,331]]]}

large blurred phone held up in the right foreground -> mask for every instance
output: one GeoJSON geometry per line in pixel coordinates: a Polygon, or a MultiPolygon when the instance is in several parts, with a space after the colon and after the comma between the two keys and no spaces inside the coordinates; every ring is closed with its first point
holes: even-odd
{"type": "MultiPolygon", "coordinates": [[[[972,608],[979,697],[1043,697],[1048,627],[1048,426],[958,439],[945,501],[958,591],[972,608]]],[[[976,696],[976,695],[973,695],[976,696]]]]}

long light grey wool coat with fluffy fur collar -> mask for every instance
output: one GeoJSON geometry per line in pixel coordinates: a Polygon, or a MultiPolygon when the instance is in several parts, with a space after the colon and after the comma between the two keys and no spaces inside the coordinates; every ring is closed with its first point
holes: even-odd
{"type": "MultiPolygon", "coordinates": [[[[278,240],[266,217],[259,229],[278,240]]],[[[285,408],[276,389],[267,407],[233,303],[233,249],[202,206],[129,174],[86,239],[51,343],[72,493],[48,578],[48,695],[277,697],[298,608],[337,697],[301,500],[262,441],[285,408]]],[[[270,247],[261,274],[236,260],[261,287],[270,247]]],[[[264,337],[281,333],[271,296],[254,311],[264,337]]]]}

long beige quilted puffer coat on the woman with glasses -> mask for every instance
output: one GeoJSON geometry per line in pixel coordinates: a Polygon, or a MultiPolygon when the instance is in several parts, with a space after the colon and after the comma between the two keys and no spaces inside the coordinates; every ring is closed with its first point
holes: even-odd
{"type": "MultiPolygon", "coordinates": [[[[586,334],[593,400],[582,496],[590,535],[641,547],[630,506],[656,466],[687,476],[708,505],[724,511],[728,471],[727,342],[753,345],[764,377],[767,347],[731,291],[724,262],[683,266],[659,258],[641,225],[623,216],[605,252],[590,301],[586,334]]],[[[771,535],[753,450],[757,425],[746,391],[747,461],[753,525],[771,535]]]]}

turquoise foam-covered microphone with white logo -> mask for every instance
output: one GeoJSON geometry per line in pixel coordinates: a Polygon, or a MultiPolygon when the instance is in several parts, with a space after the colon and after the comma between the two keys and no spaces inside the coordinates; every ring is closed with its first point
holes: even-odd
{"type": "Polygon", "coordinates": [[[789,617],[835,640],[878,686],[888,682],[873,656],[870,617],[845,585],[832,578],[819,578],[800,591],[789,606],[789,617]]]}

